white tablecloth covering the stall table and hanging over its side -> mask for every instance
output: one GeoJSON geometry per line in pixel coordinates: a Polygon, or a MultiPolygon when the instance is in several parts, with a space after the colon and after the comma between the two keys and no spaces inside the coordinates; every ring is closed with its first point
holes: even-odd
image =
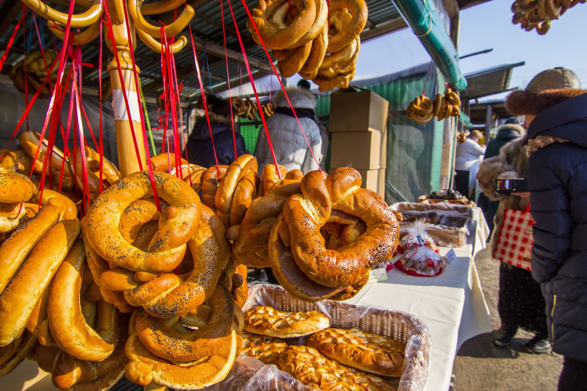
{"type": "MultiPolygon", "coordinates": [[[[448,390],[458,348],[467,339],[491,331],[489,308],[474,262],[474,254],[485,248],[487,234],[483,213],[473,208],[469,243],[454,249],[457,257],[443,274],[416,277],[393,268],[387,273],[387,281],[368,284],[348,300],[352,304],[406,311],[417,315],[427,325],[432,338],[432,355],[426,391],[448,390]]],[[[450,250],[439,249],[442,254],[450,250]]]]}

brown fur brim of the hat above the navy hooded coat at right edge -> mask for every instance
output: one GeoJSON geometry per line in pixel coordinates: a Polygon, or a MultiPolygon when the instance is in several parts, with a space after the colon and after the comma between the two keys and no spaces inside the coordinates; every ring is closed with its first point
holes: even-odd
{"type": "Polygon", "coordinates": [[[505,101],[505,107],[513,115],[537,115],[545,108],[585,93],[587,90],[578,89],[513,91],[505,101]]]}

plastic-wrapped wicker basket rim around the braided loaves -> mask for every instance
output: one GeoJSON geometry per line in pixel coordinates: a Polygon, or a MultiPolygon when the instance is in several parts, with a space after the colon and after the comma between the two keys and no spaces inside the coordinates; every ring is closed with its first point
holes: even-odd
{"type": "Polygon", "coordinates": [[[254,282],[242,308],[247,311],[258,305],[269,305],[282,311],[320,311],[332,319],[332,327],[359,328],[406,343],[402,376],[392,382],[398,391],[420,391],[430,370],[432,350],[426,325],[414,315],[385,308],[350,305],[338,301],[306,302],[288,294],[279,285],[254,282]]]}

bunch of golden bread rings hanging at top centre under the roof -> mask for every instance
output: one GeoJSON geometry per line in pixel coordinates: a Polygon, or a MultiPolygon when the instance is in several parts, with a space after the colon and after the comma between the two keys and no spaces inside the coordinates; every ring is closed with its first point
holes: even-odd
{"type": "Polygon", "coordinates": [[[259,0],[247,27],[272,49],[281,76],[299,73],[323,92],[355,76],[367,12],[364,0],[259,0]]]}

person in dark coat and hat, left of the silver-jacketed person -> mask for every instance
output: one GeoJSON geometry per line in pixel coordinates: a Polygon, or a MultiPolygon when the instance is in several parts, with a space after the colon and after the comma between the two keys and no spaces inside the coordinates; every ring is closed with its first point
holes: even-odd
{"type": "MultiPolygon", "coordinates": [[[[203,167],[211,167],[216,164],[214,149],[218,157],[218,164],[229,165],[235,160],[234,140],[232,138],[232,118],[230,117],[230,102],[215,95],[206,97],[208,104],[208,116],[210,128],[206,117],[200,117],[195,121],[194,129],[187,140],[188,161],[203,167]],[[212,131],[212,138],[210,137],[212,131]],[[212,148],[214,140],[214,148],[212,148]]],[[[237,156],[244,155],[245,139],[235,132],[237,141],[237,156]]]]}

